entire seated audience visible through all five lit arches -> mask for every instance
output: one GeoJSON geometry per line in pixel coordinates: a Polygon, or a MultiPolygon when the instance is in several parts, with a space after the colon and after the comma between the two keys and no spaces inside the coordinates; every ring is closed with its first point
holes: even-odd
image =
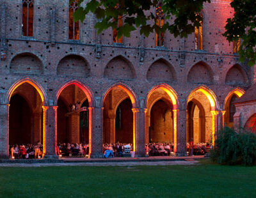
{"type": "MultiPolygon", "coordinates": [[[[191,144],[187,143],[187,153],[188,155],[205,155],[209,153],[212,145],[209,143],[197,143],[191,144]]],[[[127,150],[132,153],[132,144],[103,144],[103,153],[106,155],[106,151],[111,151],[113,156],[122,157],[125,156],[125,151],[127,150]]],[[[63,143],[57,144],[57,155],[59,156],[81,156],[85,157],[89,155],[89,144],[78,144],[78,143],[63,143]]],[[[148,156],[170,156],[173,152],[173,144],[170,143],[148,143],[145,144],[145,152],[148,156]]],[[[21,144],[10,146],[10,155],[15,159],[28,159],[28,158],[42,158],[43,156],[43,145],[38,142],[38,144],[21,144]]]]}

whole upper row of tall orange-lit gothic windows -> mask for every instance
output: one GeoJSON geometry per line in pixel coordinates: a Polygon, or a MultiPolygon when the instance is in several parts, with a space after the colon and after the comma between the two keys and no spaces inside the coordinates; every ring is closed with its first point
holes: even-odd
{"type": "MultiPolygon", "coordinates": [[[[68,11],[68,39],[79,40],[79,22],[74,22],[73,13],[77,10],[77,1],[69,5],[68,11]]],[[[22,36],[33,36],[34,0],[22,0],[22,36]]],[[[203,26],[195,27],[195,50],[203,50],[203,26]]],[[[162,4],[156,7],[156,25],[160,28],[164,25],[164,13],[162,4]]],[[[123,18],[118,17],[118,27],[123,26],[123,18]]],[[[118,31],[113,29],[113,43],[123,43],[123,36],[117,37],[118,31]]],[[[164,46],[164,33],[156,33],[156,46],[164,46]]],[[[240,40],[233,42],[233,52],[237,53],[240,40]]]]}

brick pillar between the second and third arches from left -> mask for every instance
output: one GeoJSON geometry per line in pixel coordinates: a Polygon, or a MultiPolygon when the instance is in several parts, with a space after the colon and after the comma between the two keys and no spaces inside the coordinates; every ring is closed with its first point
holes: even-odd
{"type": "Polygon", "coordinates": [[[89,156],[102,158],[103,107],[88,107],[89,110],[89,156]]]}

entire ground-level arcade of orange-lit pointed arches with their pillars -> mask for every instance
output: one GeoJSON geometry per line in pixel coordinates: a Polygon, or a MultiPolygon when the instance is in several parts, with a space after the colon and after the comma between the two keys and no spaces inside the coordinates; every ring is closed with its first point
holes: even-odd
{"type": "MultiPolygon", "coordinates": [[[[88,90],[70,83],[60,88],[56,106],[47,106],[37,84],[25,81],[12,89],[7,146],[41,142],[45,157],[56,156],[59,142],[88,143],[91,157],[102,156],[102,144],[115,142],[133,144],[136,156],[145,155],[150,142],[173,143],[177,154],[186,155],[186,142],[213,142],[216,130],[234,125],[234,101],[243,95],[230,93],[220,110],[215,95],[202,87],[191,91],[182,109],[168,86],[153,88],[138,100],[131,89],[117,85],[106,91],[100,107],[93,105],[88,90]]],[[[1,148],[1,156],[6,153],[1,148]]]]}

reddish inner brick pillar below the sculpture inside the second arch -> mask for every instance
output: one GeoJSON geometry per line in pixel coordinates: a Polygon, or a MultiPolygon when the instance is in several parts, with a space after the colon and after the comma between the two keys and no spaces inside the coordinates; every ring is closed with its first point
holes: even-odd
{"type": "Polygon", "coordinates": [[[69,116],[70,143],[80,143],[80,113],[76,112],[69,116]]]}

